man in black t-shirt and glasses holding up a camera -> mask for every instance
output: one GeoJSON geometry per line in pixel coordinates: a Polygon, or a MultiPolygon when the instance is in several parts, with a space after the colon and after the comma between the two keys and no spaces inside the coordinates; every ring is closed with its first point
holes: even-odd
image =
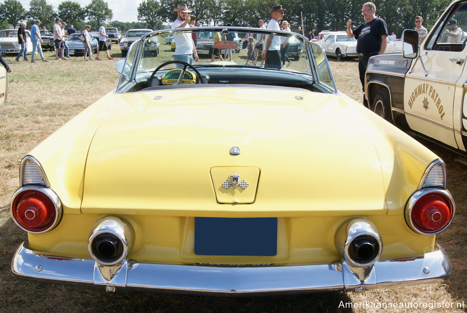
{"type": "Polygon", "coordinates": [[[376,6],[367,2],[361,7],[365,22],[352,31],[352,21],[347,21],[347,36],[357,39],[358,71],[361,87],[365,91],[365,71],[368,59],[377,54],[383,54],[388,45],[388,27],[382,18],[376,17],[376,6]]]}

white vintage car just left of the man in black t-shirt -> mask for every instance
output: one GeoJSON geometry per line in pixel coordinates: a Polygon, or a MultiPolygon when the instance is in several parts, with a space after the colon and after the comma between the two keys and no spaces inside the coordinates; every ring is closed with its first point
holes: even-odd
{"type": "Polygon", "coordinates": [[[345,31],[330,31],[316,43],[323,47],[327,56],[335,57],[338,61],[358,57],[357,39],[349,38],[345,31]]]}

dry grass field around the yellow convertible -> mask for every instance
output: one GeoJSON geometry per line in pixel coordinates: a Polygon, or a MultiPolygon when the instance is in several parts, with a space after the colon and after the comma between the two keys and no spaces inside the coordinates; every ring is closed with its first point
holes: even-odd
{"type": "MultiPolygon", "coordinates": [[[[160,45],[162,57],[169,57],[170,45],[160,45]]],[[[110,51],[121,57],[116,44],[110,51]]],[[[245,52],[234,55],[243,59],[245,52]],[[243,54],[242,54],[243,53],[243,54]]],[[[116,86],[115,61],[87,61],[82,57],[50,62],[15,62],[4,56],[13,69],[8,74],[8,99],[0,106],[0,312],[464,312],[459,308],[419,308],[419,303],[467,305],[467,167],[454,161],[455,155],[429,142],[448,167],[448,189],[456,201],[452,226],[437,236],[451,258],[453,274],[446,284],[428,284],[367,291],[362,294],[331,292],[275,297],[222,298],[182,296],[148,292],[106,293],[82,287],[23,282],[10,271],[16,248],[27,239],[9,214],[9,201],[18,187],[19,163],[34,146],[81,110],[116,86]],[[367,301],[369,307],[346,308],[348,302],[367,301]],[[371,308],[371,303],[405,303],[412,307],[371,308]],[[414,303],[417,303],[415,307],[414,303]]],[[[101,54],[103,56],[104,54],[101,54]]],[[[93,55],[95,57],[95,55],[93,55]]],[[[102,58],[102,57],[101,57],[102,58]]],[[[356,60],[329,60],[337,87],[361,102],[361,85],[356,60]]],[[[240,62],[238,62],[240,63],[240,62]]],[[[436,306],[436,305],[435,305],[436,306]]]]}

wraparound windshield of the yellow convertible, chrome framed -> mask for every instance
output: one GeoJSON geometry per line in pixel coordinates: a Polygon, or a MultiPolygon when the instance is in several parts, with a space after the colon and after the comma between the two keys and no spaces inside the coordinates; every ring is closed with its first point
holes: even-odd
{"type": "MultiPolygon", "coordinates": [[[[308,47],[308,53],[313,53],[313,58],[310,59],[305,46],[311,43],[308,43],[304,36],[283,31],[271,33],[267,29],[240,27],[190,27],[151,32],[143,39],[135,41],[126,52],[127,60],[120,77],[119,88],[131,81],[136,81],[139,86],[151,85],[149,77],[153,73],[162,81],[162,76],[167,70],[181,66],[165,64],[166,62],[174,61],[174,56],[177,56],[176,58],[179,58],[179,55],[191,56],[191,40],[196,41],[199,58],[198,61],[193,61],[192,65],[203,73],[226,71],[226,73],[238,73],[233,74],[235,83],[269,84],[269,80],[275,80],[274,72],[279,71],[288,73],[284,74],[285,80],[298,80],[305,85],[320,80],[326,88],[335,89],[327,59],[318,45],[314,46],[313,50],[311,46],[308,47]],[[164,43],[164,37],[171,35],[174,36],[173,44],[159,44],[159,42],[164,43]],[[264,40],[267,41],[268,36],[272,36],[269,45],[271,52],[268,52],[268,56],[273,60],[273,64],[266,65],[265,62],[262,64],[259,48],[265,46],[264,40]],[[159,37],[159,41],[155,40],[156,37],[159,37]],[[281,57],[282,46],[284,48],[281,57]],[[268,68],[265,69],[265,66],[268,68]]],[[[187,70],[194,72],[191,68],[187,70]]],[[[206,74],[207,76],[209,75],[206,74]]],[[[225,81],[233,83],[233,80],[227,78],[225,81]]],[[[170,83],[163,80],[162,84],[170,83]]],[[[294,86],[302,87],[300,83],[294,86]]]]}

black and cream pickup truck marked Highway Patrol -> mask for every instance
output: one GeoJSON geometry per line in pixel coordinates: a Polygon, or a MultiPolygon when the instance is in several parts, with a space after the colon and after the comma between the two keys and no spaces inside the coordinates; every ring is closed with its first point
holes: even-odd
{"type": "Polygon", "coordinates": [[[462,29],[467,30],[466,21],[467,1],[455,0],[420,46],[417,31],[404,30],[402,53],[369,59],[363,101],[373,112],[403,130],[464,158],[467,157],[467,40],[462,39],[462,29]]]}

